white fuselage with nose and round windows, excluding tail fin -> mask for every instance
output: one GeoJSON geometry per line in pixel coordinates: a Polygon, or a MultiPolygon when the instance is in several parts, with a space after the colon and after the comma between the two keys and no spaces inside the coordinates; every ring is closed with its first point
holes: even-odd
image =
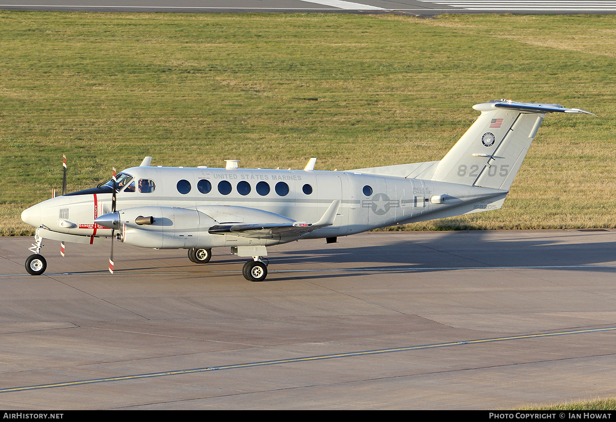
{"type": "MultiPolygon", "coordinates": [[[[498,189],[357,172],[131,167],[121,174],[130,177],[117,194],[123,241],[156,249],[348,236],[425,220],[453,206],[466,205],[467,212],[496,209],[499,206],[492,204],[506,195],[498,189]],[[140,189],[144,181],[147,189],[140,189]],[[229,223],[312,223],[333,201],[341,201],[333,225],[311,233],[274,234],[269,239],[208,233],[213,225],[229,223]],[[146,217],[143,214],[152,214],[155,222],[137,225],[135,218],[146,217]],[[160,239],[154,240],[156,236],[160,239]]],[[[110,228],[94,223],[111,212],[111,193],[96,190],[48,199],[25,210],[22,218],[60,233],[111,236],[110,228]]]]}

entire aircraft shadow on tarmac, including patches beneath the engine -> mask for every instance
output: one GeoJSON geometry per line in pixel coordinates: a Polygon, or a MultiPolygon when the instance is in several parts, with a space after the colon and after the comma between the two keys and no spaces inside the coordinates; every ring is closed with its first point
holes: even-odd
{"type": "MultiPolygon", "coordinates": [[[[606,232],[609,233],[609,232],[606,232]]],[[[353,276],[357,271],[378,271],[389,273],[424,273],[434,271],[451,271],[455,269],[477,268],[545,268],[545,269],[579,269],[583,271],[616,271],[616,262],[612,250],[616,242],[586,242],[587,237],[558,234],[550,237],[537,233],[536,237],[514,236],[508,239],[495,239],[488,231],[452,231],[432,239],[405,236],[397,240],[398,234],[392,233],[394,241],[378,244],[378,240],[362,247],[344,247],[346,238],[337,244],[323,245],[322,249],[285,250],[285,245],[272,250],[269,255],[271,281],[294,279],[292,271],[312,271],[302,274],[301,278],[328,278],[353,276]],[[577,240],[583,242],[577,242],[577,240]],[[338,264],[333,267],[331,264],[338,264]],[[309,266],[309,270],[307,270],[309,266]],[[579,268],[575,268],[579,267],[579,268]],[[332,271],[334,274],[323,274],[332,271]],[[290,277],[289,277],[290,276],[290,277]]],[[[592,236],[598,236],[593,234],[592,236]]],[[[599,235],[600,236],[600,235],[599,235]]],[[[388,236],[389,237],[389,236],[388,236]]],[[[387,239],[387,238],[386,238],[387,239]]],[[[372,240],[368,237],[368,240],[372,240]]],[[[132,248],[131,248],[132,249],[132,248]]],[[[146,258],[156,260],[156,255],[146,258]]],[[[237,269],[238,261],[243,258],[215,253],[211,263],[206,266],[194,265],[184,261],[173,266],[176,271],[216,271],[237,269]]],[[[147,269],[164,269],[156,264],[148,268],[130,268],[127,255],[121,272],[143,271],[147,269]]],[[[142,261],[143,263],[143,261],[142,261]]],[[[169,267],[171,269],[171,267],[169,267]]],[[[299,275],[299,274],[298,274],[299,275]]]]}

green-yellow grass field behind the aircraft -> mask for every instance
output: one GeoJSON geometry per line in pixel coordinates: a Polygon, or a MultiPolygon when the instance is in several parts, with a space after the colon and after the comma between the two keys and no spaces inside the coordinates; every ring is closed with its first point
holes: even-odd
{"type": "Polygon", "coordinates": [[[0,12],[0,235],[111,167],[440,159],[494,98],[560,103],[503,209],[411,229],[616,227],[616,16],[0,12]]]}

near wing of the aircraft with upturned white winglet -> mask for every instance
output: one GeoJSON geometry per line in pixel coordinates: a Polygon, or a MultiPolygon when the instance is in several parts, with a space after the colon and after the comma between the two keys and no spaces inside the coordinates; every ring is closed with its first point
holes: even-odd
{"type": "Polygon", "coordinates": [[[237,234],[245,237],[267,237],[280,236],[292,237],[302,236],[322,227],[331,226],[336,219],[341,201],[333,201],[328,209],[323,214],[320,220],[316,223],[304,223],[294,221],[293,223],[230,223],[211,226],[208,230],[211,234],[237,234]]]}

